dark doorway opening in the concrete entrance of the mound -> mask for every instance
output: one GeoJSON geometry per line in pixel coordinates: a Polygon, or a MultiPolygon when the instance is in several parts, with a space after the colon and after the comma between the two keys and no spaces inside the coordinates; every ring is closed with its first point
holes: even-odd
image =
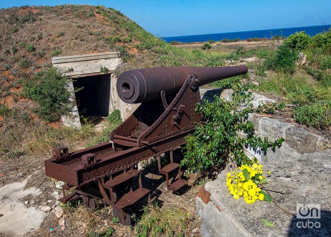
{"type": "Polygon", "coordinates": [[[73,82],[80,117],[106,117],[109,114],[110,75],[81,77],[73,82]]]}

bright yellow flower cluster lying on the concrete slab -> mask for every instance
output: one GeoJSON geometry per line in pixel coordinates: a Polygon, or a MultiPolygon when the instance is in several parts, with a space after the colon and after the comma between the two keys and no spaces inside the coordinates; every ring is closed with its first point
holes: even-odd
{"type": "Polygon", "coordinates": [[[260,183],[260,180],[265,178],[262,176],[263,166],[254,163],[252,166],[242,165],[239,169],[247,169],[250,179],[245,181],[243,172],[236,172],[236,169],[233,171],[232,175],[229,172],[226,178],[226,186],[231,195],[233,195],[235,199],[244,196],[247,203],[255,203],[255,200],[257,199],[263,201],[264,195],[260,193],[261,189],[257,186],[257,184],[260,183]]]}

